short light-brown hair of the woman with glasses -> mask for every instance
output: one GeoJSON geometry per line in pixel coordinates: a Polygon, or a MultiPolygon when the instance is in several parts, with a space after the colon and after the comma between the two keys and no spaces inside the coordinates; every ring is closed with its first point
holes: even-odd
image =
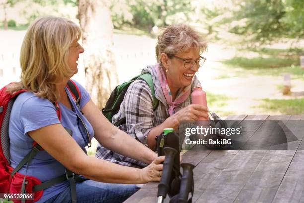
{"type": "Polygon", "coordinates": [[[200,52],[207,49],[207,43],[202,36],[185,24],[173,24],[166,27],[158,36],[156,44],[156,59],[161,63],[160,55],[165,53],[169,58],[173,55],[188,50],[190,47],[196,47],[200,52]]]}

